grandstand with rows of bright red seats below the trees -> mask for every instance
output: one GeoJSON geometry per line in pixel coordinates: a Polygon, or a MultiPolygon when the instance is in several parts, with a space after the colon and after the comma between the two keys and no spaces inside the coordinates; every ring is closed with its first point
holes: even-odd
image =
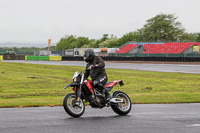
{"type": "Polygon", "coordinates": [[[129,43],[116,53],[181,54],[194,52],[193,46],[200,47],[200,42],[129,43]]]}

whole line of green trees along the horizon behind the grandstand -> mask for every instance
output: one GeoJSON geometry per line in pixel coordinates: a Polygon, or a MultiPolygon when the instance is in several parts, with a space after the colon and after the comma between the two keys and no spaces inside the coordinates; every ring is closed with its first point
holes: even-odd
{"type": "Polygon", "coordinates": [[[148,19],[142,28],[126,33],[121,38],[108,34],[103,34],[100,39],[66,35],[57,43],[55,50],[112,48],[119,47],[127,42],[200,42],[200,32],[186,32],[181,22],[178,22],[177,19],[178,17],[174,14],[158,14],[148,19]]]}

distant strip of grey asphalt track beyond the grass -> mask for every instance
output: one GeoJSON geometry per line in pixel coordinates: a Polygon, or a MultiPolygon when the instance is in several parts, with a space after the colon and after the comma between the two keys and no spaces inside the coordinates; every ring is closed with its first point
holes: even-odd
{"type": "MultiPolygon", "coordinates": [[[[47,64],[47,65],[66,65],[66,66],[86,66],[86,63],[83,61],[24,61],[24,60],[9,61],[9,60],[5,60],[3,62],[47,64]]],[[[200,65],[192,65],[192,64],[144,64],[144,63],[106,62],[106,68],[200,74],[200,65]]]]}

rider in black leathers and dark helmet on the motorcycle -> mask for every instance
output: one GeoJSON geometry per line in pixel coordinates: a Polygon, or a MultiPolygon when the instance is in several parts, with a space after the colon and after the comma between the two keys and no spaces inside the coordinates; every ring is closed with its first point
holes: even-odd
{"type": "Polygon", "coordinates": [[[91,77],[93,86],[101,89],[106,95],[106,99],[109,100],[110,94],[105,89],[107,83],[107,74],[105,70],[105,63],[101,57],[95,56],[92,49],[87,49],[83,55],[84,60],[87,62],[85,78],[91,77]]]}

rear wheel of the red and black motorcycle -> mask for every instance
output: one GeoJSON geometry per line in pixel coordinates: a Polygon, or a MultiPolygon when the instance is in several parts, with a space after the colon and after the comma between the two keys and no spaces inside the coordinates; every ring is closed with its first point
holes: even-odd
{"type": "Polygon", "coordinates": [[[115,113],[119,115],[126,115],[131,111],[131,100],[126,93],[122,91],[115,91],[112,98],[119,98],[123,100],[123,103],[111,104],[111,108],[115,113]]]}

